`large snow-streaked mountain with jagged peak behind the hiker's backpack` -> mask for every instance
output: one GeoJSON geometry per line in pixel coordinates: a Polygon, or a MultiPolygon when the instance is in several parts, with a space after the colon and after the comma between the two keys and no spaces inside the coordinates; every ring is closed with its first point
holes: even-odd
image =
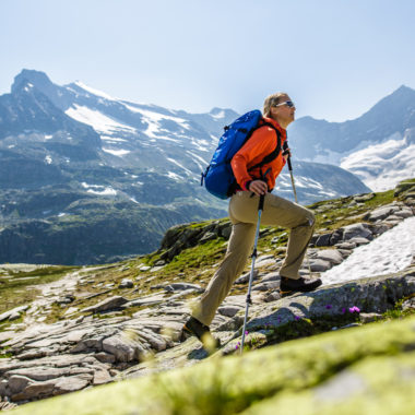
{"type": "MultiPolygon", "coordinates": [[[[0,262],[106,262],[156,249],[175,224],[225,216],[200,174],[237,117],[131,103],[23,70],[0,96],[0,262]]],[[[300,203],[369,190],[339,167],[294,168],[300,203]]],[[[289,175],[275,191],[293,198],[289,175]]]]}

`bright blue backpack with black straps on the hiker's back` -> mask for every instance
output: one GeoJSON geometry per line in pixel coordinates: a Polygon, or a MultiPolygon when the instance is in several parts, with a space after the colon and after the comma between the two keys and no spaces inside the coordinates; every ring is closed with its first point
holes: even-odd
{"type": "Polygon", "coordinates": [[[230,166],[230,161],[249,140],[252,132],[264,126],[271,127],[276,132],[276,147],[261,163],[256,164],[249,169],[252,170],[272,162],[281,152],[281,133],[272,123],[263,121],[261,111],[254,109],[224,128],[225,132],[221,137],[211,163],[205,171],[202,173],[201,186],[204,182],[206,190],[216,198],[227,199],[232,197],[238,185],[230,166]]]}

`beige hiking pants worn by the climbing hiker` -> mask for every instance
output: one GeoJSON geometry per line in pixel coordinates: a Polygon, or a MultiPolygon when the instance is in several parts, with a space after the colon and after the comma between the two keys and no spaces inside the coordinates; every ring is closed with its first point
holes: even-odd
{"type": "MultiPolygon", "coordinates": [[[[242,273],[247,260],[252,253],[259,197],[251,197],[251,194],[248,191],[239,191],[230,199],[229,218],[233,228],[225,259],[213,275],[204,294],[192,307],[192,316],[203,324],[211,324],[217,308],[229,293],[235,280],[242,273]]],[[[312,236],[313,213],[288,200],[266,193],[261,225],[282,226],[290,229],[287,253],[280,275],[299,278],[298,270],[312,236]]]]}

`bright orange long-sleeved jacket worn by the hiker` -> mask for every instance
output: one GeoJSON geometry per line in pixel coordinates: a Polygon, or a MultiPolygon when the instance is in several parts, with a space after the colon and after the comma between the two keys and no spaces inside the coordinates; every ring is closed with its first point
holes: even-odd
{"type": "MultiPolygon", "coordinates": [[[[287,132],[272,118],[264,118],[281,132],[281,149],[287,139],[287,132]]],[[[262,159],[275,150],[277,143],[276,132],[271,127],[261,127],[256,130],[251,138],[234,155],[230,165],[234,170],[236,181],[242,190],[247,183],[254,179],[260,179],[269,168],[271,171],[266,176],[268,189],[271,191],[275,186],[275,179],[285,165],[282,152],[271,163],[249,170],[249,167],[261,163],[262,159]]]]}

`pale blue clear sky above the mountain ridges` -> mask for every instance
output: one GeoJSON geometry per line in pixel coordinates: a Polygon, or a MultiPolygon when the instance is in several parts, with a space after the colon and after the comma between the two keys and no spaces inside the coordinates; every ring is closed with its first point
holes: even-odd
{"type": "Polygon", "coordinates": [[[297,116],[354,119],[415,88],[413,0],[0,0],[0,94],[23,69],[204,112],[288,92],[297,116]]]}

